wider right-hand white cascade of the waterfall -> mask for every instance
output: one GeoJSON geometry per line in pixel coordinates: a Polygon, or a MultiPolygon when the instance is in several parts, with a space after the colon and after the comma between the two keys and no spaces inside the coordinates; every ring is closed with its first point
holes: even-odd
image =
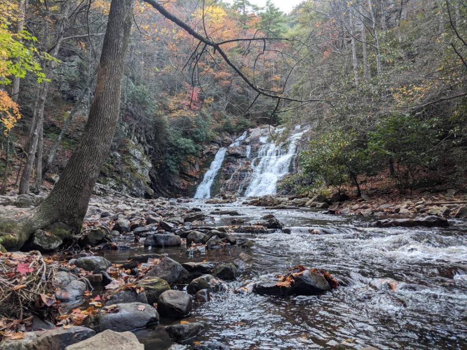
{"type": "MultiPolygon", "coordinates": [[[[277,130],[278,133],[282,131],[283,129],[277,130]]],[[[274,140],[266,143],[266,137],[260,138],[260,142],[264,144],[252,161],[253,173],[245,191],[246,197],[276,193],[277,182],[289,172],[290,164],[297,154],[297,141],[303,133],[292,134],[287,139],[288,147],[285,149],[283,145],[276,145],[274,140]]]]}

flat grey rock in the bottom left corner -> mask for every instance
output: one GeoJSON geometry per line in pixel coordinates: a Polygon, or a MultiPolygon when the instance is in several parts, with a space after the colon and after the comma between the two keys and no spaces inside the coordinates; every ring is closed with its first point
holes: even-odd
{"type": "Polygon", "coordinates": [[[86,327],[71,326],[68,329],[26,332],[22,339],[5,339],[2,350],[63,350],[68,345],[92,337],[95,332],[86,327]]]}

